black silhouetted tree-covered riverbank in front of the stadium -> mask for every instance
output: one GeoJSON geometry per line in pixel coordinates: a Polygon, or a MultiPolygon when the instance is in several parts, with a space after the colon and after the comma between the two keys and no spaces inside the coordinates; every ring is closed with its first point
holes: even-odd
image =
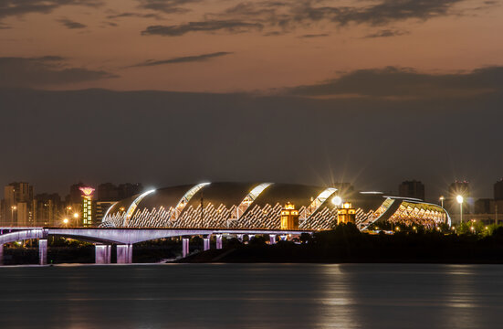
{"type": "Polygon", "coordinates": [[[232,243],[179,262],[503,264],[503,230],[480,238],[438,232],[371,235],[347,227],[299,243],[268,245],[264,239],[252,239],[247,245],[232,243]]]}

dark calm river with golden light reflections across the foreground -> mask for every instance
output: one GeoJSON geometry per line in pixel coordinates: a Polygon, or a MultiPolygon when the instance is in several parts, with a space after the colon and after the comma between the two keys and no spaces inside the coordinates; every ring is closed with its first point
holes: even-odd
{"type": "Polygon", "coordinates": [[[0,268],[0,328],[503,328],[503,266],[0,268]]]}

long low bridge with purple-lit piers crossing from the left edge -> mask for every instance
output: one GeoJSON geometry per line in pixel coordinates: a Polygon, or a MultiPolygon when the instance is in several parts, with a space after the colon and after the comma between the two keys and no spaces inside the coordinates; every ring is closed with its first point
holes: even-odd
{"type": "Polygon", "coordinates": [[[110,264],[111,245],[117,245],[117,263],[131,264],[133,244],[152,239],[181,237],[182,256],[189,253],[191,237],[203,236],[203,249],[210,249],[210,239],[216,238],[216,249],[222,249],[224,235],[235,236],[242,240],[256,235],[268,235],[271,244],[276,243],[277,236],[287,239],[288,235],[299,236],[302,233],[312,234],[312,230],[284,229],[237,229],[237,228],[0,228],[0,265],[4,263],[4,244],[26,239],[38,239],[38,260],[40,265],[47,264],[47,238],[49,236],[79,239],[95,245],[95,262],[110,264]]]}

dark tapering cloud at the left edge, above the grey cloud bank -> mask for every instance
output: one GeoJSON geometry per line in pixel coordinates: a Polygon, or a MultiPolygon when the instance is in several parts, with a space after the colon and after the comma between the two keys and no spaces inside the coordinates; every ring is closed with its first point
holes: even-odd
{"type": "Polygon", "coordinates": [[[65,58],[58,56],[0,58],[0,88],[33,88],[115,77],[101,70],[68,68],[65,58]]]}

